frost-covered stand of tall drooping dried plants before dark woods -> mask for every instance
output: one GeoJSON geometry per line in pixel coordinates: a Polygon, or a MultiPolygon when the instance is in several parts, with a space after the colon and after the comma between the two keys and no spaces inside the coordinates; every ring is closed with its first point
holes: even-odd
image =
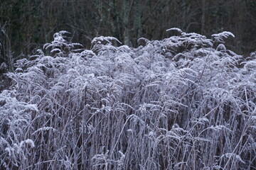
{"type": "Polygon", "coordinates": [[[68,32],[18,60],[0,94],[0,169],[256,169],[256,59],[225,38],[68,32]]]}

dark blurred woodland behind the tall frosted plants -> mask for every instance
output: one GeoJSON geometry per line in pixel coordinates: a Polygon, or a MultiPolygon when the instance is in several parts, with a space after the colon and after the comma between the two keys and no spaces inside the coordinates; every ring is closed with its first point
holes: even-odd
{"type": "Polygon", "coordinates": [[[31,54],[59,30],[87,48],[98,35],[137,47],[138,38],[167,38],[173,27],[203,35],[228,30],[236,36],[230,49],[248,55],[255,51],[255,8],[255,0],[1,0],[0,62],[12,67],[11,60],[31,54]]]}

